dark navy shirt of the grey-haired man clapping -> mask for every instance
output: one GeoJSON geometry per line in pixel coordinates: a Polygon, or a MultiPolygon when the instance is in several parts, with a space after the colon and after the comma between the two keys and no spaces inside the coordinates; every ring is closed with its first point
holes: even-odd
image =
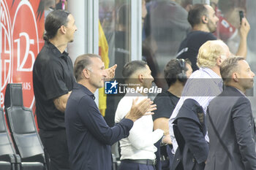
{"type": "Polygon", "coordinates": [[[129,136],[133,122],[123,119],[110,128],[88,88],[75,83],[67,101],[65,124],[70,169],[111,170],[111,145],[129,136]]]}

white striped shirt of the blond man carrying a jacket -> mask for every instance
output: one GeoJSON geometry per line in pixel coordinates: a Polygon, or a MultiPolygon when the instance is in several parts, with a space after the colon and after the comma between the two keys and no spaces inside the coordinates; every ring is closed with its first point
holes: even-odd
{"type": "MultiPolygon", "coordinates": [[[[222,78],[211,69],[203,67],[191,74],[184,86],[181,98],[179,99],[169,120],[169,131],[173,142],[173,153],[175,153],[178,148],[178,144],[173,133],[173,120],[175,120],[178,115],[178,111],[184,101],[187,98],[194,99],[201,107],[203,107],[203,112],[206,114],[208,104],[214,97],[218,96],[219,93],[222,93],[222,87],[222,78]]],[[[209,141],[208,133],[206,134],[206,141],[209,141]]]]}

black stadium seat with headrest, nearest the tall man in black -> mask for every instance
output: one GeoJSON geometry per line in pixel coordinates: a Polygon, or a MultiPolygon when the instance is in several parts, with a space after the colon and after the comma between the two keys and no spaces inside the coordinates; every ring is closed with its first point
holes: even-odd
{"type": "Polygon", "coordinates": [[[46,170],[45,154],[37,133],[31,109],[23,107],[22,85],[7,85],[4,98],[5,113],[16,152],[23,170],[46,170]]]}

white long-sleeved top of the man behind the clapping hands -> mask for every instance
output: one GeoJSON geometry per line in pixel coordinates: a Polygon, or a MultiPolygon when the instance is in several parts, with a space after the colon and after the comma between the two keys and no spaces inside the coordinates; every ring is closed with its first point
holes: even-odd
{"type": "MultiPolygon", "coordinates": [[[[138,102],[142,101],[147,96],[136,94],[138,96],[138,102]]],[[[126,94],[121,101],[118,103],[116,109],[115,122],[118,123],[120,120],[127,115],[127,112],[132,107],[132,99],[137,98],[134,94],[126,94]]],[[[153,120],[151,115],[145,115],[136,120],[129,131],[127,138],[121,139],[121,160],[124,159],[150,159],[154,160],[156,155],[154,152],[157,151],[157,147],[154,146],[159,139],[161,139],[164,131],[157,129],[153,131],[153,120]]]]}

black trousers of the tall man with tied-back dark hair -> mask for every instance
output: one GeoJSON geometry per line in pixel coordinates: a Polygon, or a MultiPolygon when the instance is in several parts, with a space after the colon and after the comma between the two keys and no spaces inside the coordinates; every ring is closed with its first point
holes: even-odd
{"type": "Polygon", "coordinates": [[[45,154],[50,158],[50,170],[69,170],[66,131],[39,130],[39,136],[45,147],[45,154]]]}

